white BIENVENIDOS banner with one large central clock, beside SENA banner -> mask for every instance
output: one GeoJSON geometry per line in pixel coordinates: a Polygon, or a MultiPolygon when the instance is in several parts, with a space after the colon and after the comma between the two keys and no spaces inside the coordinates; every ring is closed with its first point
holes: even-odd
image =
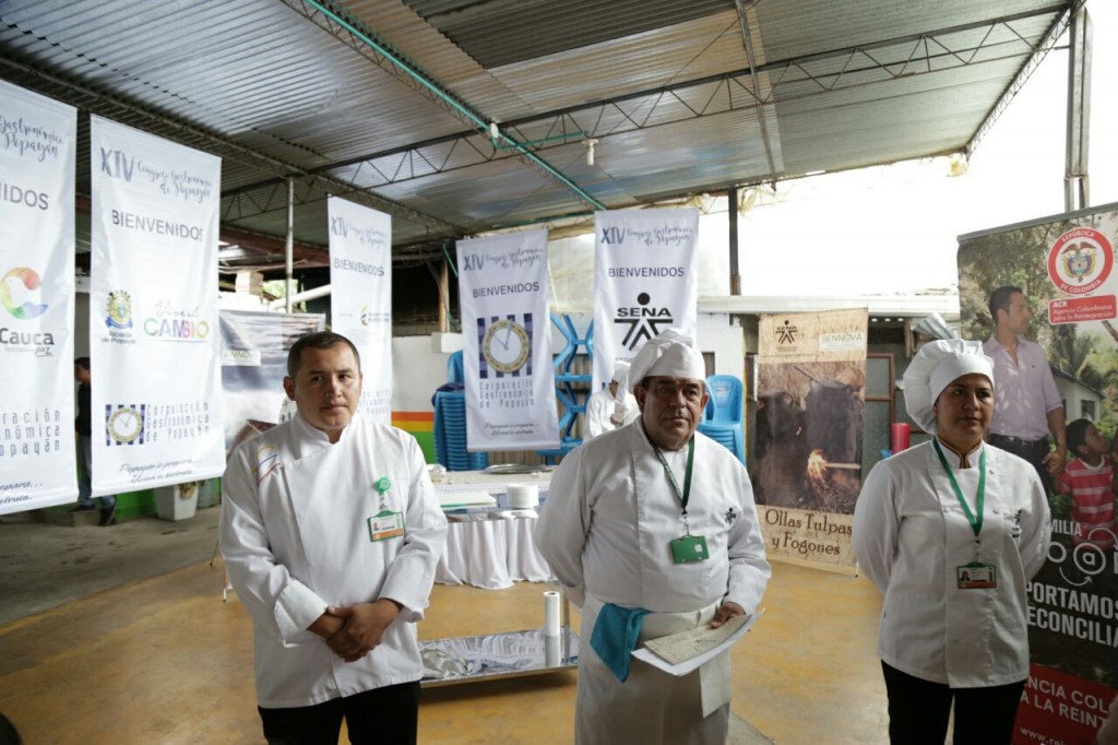
{"type": "Polygon", "coordinates": [[[548,233],[458,241],[466,449],[557,449],[548,233]]]}

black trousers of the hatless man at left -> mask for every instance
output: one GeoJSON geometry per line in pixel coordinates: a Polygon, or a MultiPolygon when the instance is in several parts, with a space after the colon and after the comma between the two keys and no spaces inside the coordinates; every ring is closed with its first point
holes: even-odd
{"type": "Polygon", "coordinates": [[[256,707],[268,745],[338,745],[342,717],[353,745],[415,745],[419,722],[419,681],[375,688],[314,706],[256,707]]]}

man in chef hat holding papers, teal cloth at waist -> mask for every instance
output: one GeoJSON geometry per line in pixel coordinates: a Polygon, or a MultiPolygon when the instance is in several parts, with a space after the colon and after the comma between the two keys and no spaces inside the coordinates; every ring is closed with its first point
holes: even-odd
{"type": "Polygon", "coordinates": [[[697,433],[705,365],[674,329],[629,370],[641,417],[556,469],[536,544],[582,609],[575,742],[726,742],[730,657],[684,677],[633,660],[648,639],[757,611],[770,568],[752,487],[729,450],[697,433]]]}

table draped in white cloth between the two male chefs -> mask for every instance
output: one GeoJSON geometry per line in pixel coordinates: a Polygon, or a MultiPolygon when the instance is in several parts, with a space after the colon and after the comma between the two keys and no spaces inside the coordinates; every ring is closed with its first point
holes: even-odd
{"type": "Polygon", "coordinates": [[[435,491],[449,525],[435,582],[503,590],[513,582],[552,579],[551,568],[532,540],[539,513],[534,509],[512,509],[508,500],[510,484],[534,483],[542,501],[550,480],[550,470],[524,474],[452,471],[436,482],[435,491]],[[467,501],[471,496],[487,494],[495,503],[455,507],[458,494],[467,501]]]}

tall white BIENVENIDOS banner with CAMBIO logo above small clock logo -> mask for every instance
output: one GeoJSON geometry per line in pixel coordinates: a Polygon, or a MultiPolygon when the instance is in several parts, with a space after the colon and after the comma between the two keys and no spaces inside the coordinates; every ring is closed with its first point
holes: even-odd
{"type": "Polygon", "coordinates": [[[221,159],[89,120],[93,493],[225,470],[221,159]]]}

